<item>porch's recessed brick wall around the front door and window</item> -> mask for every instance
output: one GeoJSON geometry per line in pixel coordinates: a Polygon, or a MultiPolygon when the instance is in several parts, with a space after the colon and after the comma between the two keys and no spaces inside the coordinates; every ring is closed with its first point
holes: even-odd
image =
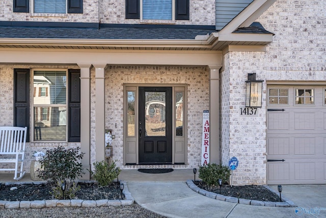
{"type": "MultiPolygon", "coordinates": [[[[13,125],[13,70],[14,68],[56,68],[58,66],[42,65],[0,65],[0,126],[13,125]]],[[[77,66],[60,66],[62,68],[78,68],[77,66]]],[[[123,166],[123,84],[187,84],[188,95],[188,140],[187,166],[196,167],[201,157],[202,111],[208,109],[208,70],[203,66],[110,66],[105,72],[105,128],[112,129],[116,138],[113,140],[113,160],[121,168],[123,166]],[[117,127],[115,127],[117,124],[117,127]]],[[[80,146],[80,143],[43,143],[26,144],[26,172],[30,170],[31,160],[35,159],[35,151],[58,146],[80,146]]],[[[91,162],[95,161],[95,69],[91,70],[91,162]]],[[[93,167],[93,165],[92,165],[93,167]]],[[[138,167],[138,166],[137,166],[138,167]]],[[[157,167],[164,167],[159,165],[157,167]]],[[[165,166],[166,167],[166,166],[165,166]]],[[[168,166],[172,167],[172,166],[168,166]]],[[[173,166],[175,167],[175,166],[173,166]]]]}

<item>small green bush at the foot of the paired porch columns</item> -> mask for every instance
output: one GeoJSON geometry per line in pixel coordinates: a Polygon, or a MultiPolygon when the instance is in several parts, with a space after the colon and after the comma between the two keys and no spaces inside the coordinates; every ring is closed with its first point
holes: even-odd
{"type": "Polygon", "coordinates": [[[95,172],[92,173],[93,178],[98,182],[100,186],[111,185],[113,180],[117,178],[121,172],[121,169],[116,167],[115,162],[108,164],[102,160],[100,162],[93,163],[95,172]]]}

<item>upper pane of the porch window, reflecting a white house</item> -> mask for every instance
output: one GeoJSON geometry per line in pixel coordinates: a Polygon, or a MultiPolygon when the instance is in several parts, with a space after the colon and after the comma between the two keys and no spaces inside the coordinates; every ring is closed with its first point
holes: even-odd
{"type": "Polygon", "coordinates": [[[66,71],[35,71],[34,91],[34,105],[65,105],[66,71]]]}

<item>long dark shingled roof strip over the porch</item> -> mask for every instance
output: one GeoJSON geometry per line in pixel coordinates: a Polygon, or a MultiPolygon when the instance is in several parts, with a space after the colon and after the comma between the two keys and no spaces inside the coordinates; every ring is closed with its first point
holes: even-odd
{"type": "Polygon", "coordinates": [[[0,26],[0,38],[45,39],[195,39],[213,32],[210,26],[111,25],[104,28],[0,26]]]}

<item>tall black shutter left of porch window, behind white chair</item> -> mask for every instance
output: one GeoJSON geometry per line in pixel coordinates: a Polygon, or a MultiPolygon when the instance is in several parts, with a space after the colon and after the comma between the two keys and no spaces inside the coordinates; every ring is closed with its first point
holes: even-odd
{"type": "Polygon", "coordinates": [[[30,69],[14,69],[14,126],[27,127],[30,141],[30,69]]]}

